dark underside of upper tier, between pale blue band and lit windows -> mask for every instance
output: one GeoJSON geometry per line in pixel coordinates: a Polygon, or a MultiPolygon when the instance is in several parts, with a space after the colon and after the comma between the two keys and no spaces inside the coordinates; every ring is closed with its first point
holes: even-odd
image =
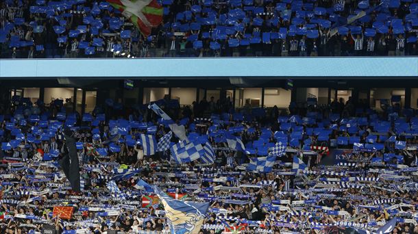
{"type": "MultiPolygon", "coordinates": [[[[143,88],[206,88],[214,89],[233,89],[233,88],[286,88],[287,79],[268,79],[260,78],[257,82],[234,83],[230,79],[134,79],[134,87],[143,88]]],[[[417,79],[295,79],[293,86],[297,88],[336,88],[339,90],[358,89],[367,90],[368,88],[418,88],[417,79]]],[[[86,88],[111,89],[123,87],[121,79],[70,79],[69,83],[60,82],[60,79],[3,79],[0,86],[8,88],[23,87],[44,87],[44,88],[86,88]]]]}

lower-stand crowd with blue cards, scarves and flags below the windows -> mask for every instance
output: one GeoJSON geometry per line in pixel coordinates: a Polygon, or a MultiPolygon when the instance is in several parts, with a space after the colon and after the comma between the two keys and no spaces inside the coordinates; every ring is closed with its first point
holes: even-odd
{"type": "Polygon", "coordinates": [[[14,99],[0,116],[1,233],[418,232],[414,110],[201,104],[107,100],[80,116],[14,99]],[[81,192],[57,163],[64,128],[81,192]]]}

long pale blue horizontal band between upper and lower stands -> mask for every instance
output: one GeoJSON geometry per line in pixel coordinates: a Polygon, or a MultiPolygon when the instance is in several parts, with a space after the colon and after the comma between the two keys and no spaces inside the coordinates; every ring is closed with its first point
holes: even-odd
{"type": "Polygon", "coordinates": [[[0,60],[0,79],[417,79],[418,57],[0,60]]]}

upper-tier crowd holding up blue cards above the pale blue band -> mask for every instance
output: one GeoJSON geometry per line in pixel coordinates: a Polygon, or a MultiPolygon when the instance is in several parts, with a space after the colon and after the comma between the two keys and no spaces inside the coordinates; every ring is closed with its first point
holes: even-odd
{"type": "Polygon", "coordinates": [[[144,36],[106,1],[2,1],[1,57],[418,55],[412,0],[159,3],[144,36]]]}

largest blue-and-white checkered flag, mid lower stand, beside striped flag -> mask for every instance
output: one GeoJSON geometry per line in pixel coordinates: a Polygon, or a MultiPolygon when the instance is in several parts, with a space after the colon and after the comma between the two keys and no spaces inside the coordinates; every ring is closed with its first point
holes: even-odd
{"type": "Polygon", "coordinates": [[[199,159],[201,153],[204,153],[204,148],[199,143],[179,142],[171,146],[170,151],[173,161],[177,164],[184,164],[199,159]]]}

